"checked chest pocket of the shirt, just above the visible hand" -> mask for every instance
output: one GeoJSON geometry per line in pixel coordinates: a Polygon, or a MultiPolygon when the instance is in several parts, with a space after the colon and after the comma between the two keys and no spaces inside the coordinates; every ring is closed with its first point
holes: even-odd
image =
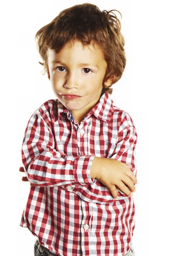
{"type": "Polygon", "coordinates": [[[116,145],[108,140],[94,140],[94,152],[96,157],[111,158],[116,145]]]}

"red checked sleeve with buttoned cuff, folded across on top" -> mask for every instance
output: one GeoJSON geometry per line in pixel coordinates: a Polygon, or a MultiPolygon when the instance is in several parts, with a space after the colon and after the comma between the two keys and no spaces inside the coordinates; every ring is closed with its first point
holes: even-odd
{"type": "Polygon", "coordinates": [[[94,184],[90,170],[94,156],[72,157],[55,149],[49,120],[37,111],[28,121],[22,144],[26,177],[36,186],[94,184]]]}

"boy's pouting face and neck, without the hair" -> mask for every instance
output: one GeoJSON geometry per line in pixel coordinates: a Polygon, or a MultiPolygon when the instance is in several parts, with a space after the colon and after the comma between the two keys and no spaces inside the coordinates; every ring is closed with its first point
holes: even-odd
{"type": "MultiPolygon", "coordinates": [[[[102,93],[107,63],[101,49],[97,44],[95,48],[90,45],[83,49],[80,41],[75,41],[72,46],[68,43],[59,53],[48,49],[48,68],[48,79],[57,99],[71,110],[74,119],[80,124],[102,93]],[[81,97],[66,99],[61,95],[63,93],[81,97]]],[[[105,85],[110,85],[112,80],[113,77],[105,85]]]]}

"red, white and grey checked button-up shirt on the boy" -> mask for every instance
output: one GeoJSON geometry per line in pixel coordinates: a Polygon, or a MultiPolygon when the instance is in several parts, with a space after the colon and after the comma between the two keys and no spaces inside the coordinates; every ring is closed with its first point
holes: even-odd
{"type": "Polygon", "coordinates": [[[79,125],[58,99],[41,105],[28,121],[22,161],[30,193],[20,226],[60,256],[123,256],[135,227],[133,197],[114,199],[91,179],[94,157],[132,164],[136,128],[130,115],[103,93],[79,125]]]}

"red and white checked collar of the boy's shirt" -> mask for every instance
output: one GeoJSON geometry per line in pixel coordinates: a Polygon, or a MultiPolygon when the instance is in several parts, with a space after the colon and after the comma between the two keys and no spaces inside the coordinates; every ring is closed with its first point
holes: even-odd
{"type": "MultiPolygon", "coordinates": [[[[57,99],[57,109],[58,109],[58,119],[61,113],[67,113],[69,119],[71,119],[71,110],[67,109],[58,99],[57,99]]],[[[99,120],[109,123],[111,119],[111,112],[113,110],[113,100],[111,95],[107,92],[103,93],[96,105],[87,113],[86,118],[94,115],[99,120]]],[[[73,119],[71,119],[73,121],[73,119]]]]}

